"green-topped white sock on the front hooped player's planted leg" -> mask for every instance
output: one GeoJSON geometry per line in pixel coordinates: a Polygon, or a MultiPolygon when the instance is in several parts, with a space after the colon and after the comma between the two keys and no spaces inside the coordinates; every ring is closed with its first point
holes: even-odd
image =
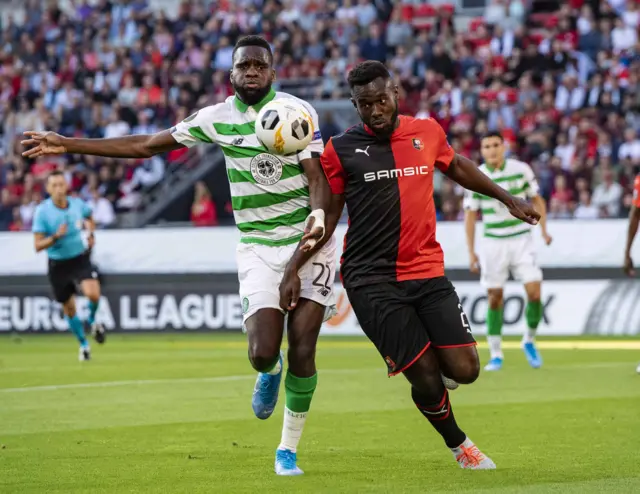
{"type": "Polygon", "coordinates": [[[318,374],[311,377],[296,377],[291,371],[287,371],[287,377],[284,380],[286,394],[284,423],[278,449],[289,449],[295,453],[317,384],[318,374]]]}

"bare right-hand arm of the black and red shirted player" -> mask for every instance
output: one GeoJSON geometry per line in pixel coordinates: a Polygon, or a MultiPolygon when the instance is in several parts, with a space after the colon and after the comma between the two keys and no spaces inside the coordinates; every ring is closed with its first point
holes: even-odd
{"type": "Polygon", "coordinates": [[[473,161],[468,160],[464,156],[456,154],[444,173],[465,189],[497,199],[504,204],[509,209],[509,212],[516,218],[532,225],[538,223],[540,213],[538,213],[533,206],[509,194],[509,192],[482,173],[473,161]]]}

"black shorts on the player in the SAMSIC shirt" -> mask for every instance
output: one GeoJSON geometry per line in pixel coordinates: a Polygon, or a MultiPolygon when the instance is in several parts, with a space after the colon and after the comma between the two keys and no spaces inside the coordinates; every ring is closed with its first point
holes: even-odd
{"type": "Polygon", "coordinates": [[[433,345],[476,344],[451,282],[444,276],[347,288],[360,326],[393,376],[433,345]]]}

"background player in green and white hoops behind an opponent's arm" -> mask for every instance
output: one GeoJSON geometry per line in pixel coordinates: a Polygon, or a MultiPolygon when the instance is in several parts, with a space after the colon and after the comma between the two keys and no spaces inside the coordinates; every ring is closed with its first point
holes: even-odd
{"type": "MultiPolygon", "coordinates": [[[[514,196],[531,199],[540,213],[542,237],[549,245],[551,237],[547,233],[546,205],[544,198],[540,196],[538,182],[531,167],[522,161],[505,159],[504,139],[498,132],[486,134],[482,138],[480,150],[484,159],[480,169],[488,177],[514,196]]],[[[498,201],[473,192],[466,192],[464,207],[471,271],[480,271],[481,283],[487,289],[489,299],[487,340],[491,359],[485,370],[496,371],[502,368],[503,288],[509,278],[509,272],[524,284],[527,292],[525,317],[528,330],[522,339],[522,348],[529,364],[538,368],[542,365],[542,359],[535,345],[535,335],[542,319],[542,270],[536,262],[531,231],[533,227],[514,219],[498,201]],[[475,251],[478,211],[482,212],[484,229],[479,260],[475,251]]]]}

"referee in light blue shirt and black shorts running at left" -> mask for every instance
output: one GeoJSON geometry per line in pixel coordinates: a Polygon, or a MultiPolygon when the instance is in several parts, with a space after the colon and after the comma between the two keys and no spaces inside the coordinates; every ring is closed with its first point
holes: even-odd
{"type": "Polygon", "coordinates": [[[98,273],[91,265],[90,253],[96,228],[91,208],[83,200],[67,195],[67,181],[60,171],[47,178],[50,197],[36,208],[33,233],[36,252],[47,251],[49,257],[49,282],[57,302],[62,304],[69,329],[80,343],[80,360],[89,360],[91,350],[85,338],[84,324],[76,314],[76,286],[89,299],[87,324],[98,343],[104,343],[105,332],[95,322],[100,303],[98,273]],[[89,232],[88,246],[82,238],[82,229],[89,232]]]}

